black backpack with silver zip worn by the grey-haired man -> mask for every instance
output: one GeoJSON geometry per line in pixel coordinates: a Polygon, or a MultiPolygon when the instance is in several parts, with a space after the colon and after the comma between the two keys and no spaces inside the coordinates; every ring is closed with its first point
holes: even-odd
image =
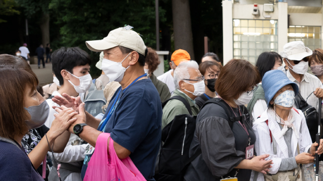
{"type": "Polygon", "coordinates": [[[164,106],[171,100],[181,101],[189,112],[189,115],[177,115],[161,131],[161,146],[159,155],[159,178],[158,181],[182,181],[188,164],[201,152],[197,152],[191,158],[189,149],[196,127],[196,116],[192,116],[189,103],[180,96],[174,96],[165,101],[164,106]]]}

